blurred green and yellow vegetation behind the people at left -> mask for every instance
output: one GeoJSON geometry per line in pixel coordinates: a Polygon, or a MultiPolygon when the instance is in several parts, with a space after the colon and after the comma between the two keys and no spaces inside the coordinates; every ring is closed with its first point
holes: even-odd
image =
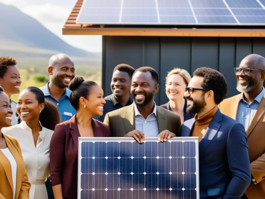
{"type": "MultiPolygon", "coordinates": [[[[47,65],[18,64],[22,84],[20,92],[28,86],[41,87],[49,81],[47,65]]],[[[87,81],[95,81],[101,86],[101,65],[87,66],[87,64],[78,64],[75,66],[76,76],[82,76],[87,81]]],[[[12,95],[11,98],[17,101],[19,94],[12,95]]]]}

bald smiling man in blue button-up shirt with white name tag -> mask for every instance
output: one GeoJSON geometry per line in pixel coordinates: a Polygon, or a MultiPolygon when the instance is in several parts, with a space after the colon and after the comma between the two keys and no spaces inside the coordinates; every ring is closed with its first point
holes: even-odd
{"type": "Polygon", "coordinates": [[[65,54],[53,55],[49,61],[48,73],[50,82],[40,89],[45,98],[57,106],[61,122],[67,121],[76,114],[69,100],[72,91],[68,89],[70,81],[75,77],[74,62],[65,54]]]}

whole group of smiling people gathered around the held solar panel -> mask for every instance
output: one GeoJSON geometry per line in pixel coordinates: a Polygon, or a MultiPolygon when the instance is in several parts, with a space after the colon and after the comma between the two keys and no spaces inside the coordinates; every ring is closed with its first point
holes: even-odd
{"type": "Polygon", "coordinates": [[[75,77],[67,55],[56,54],[50,81],[20,92],[16,60],[0,57],[0,199],[77,198],[78,137],[142,143],[176,136],[198,137],[201,199],[264,199],[265,58],[250,54],[234,72],[241,94],[225,99],[220,72],[202,67],[191,77],[174,68],[165,82],[169,102],[158,106],[151,67],[117,65],[104,97],[98,84],[75,77]]]}

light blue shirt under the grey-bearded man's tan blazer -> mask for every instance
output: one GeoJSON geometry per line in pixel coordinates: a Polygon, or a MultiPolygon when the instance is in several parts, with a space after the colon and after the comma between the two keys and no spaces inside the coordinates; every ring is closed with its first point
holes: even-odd
{"type": "Polygon", "coordinates": [[[265,94],[265,89],[263,87],[262,91],[257,95],[257,97],[250,104],[246,102],[246,100],[243,98],[243,95],[242,95],[239,101],[239,104],[238,104],[238,108],[237,108],[236,120],[237,122],[240,122],[241,124],[243,124],[245,129],[248,128],[255,111],[258,109],[260,101],[264,97],[264,94],[265,94]]]}

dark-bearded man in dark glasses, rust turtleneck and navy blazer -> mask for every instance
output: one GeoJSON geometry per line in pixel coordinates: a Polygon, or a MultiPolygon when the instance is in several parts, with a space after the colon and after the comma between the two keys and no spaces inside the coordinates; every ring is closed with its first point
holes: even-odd
{"type": "Polygon", "coordinates": [[[244,126],[218,109],[226,93],[220,72],[197,68],[184,94],[187,113],[196,115],[183,123],[181,136],[199,139],[200,199],[240,198],[250,185],[244,126]]]}

